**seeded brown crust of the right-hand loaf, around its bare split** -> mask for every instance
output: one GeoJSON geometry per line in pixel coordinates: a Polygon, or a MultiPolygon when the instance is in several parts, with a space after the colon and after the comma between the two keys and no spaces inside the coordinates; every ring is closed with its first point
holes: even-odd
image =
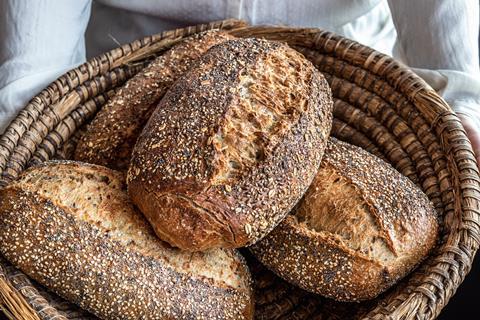
{"type": "MultiPolygon", "coordinates": [[[[410,180],[358,147],[330,139],[320,170],[326,167],[334,167],[359,190],[390,251],[372,256],[353,250],[338,236],[299,223],[297,211],[251,250],[276,274],[305,290],[340,301],[372,299],[433,248],[438,232],[434,208],[410,180]]],[[[322,188],[319,179],[309,190],[316,188],[322,188]]],[[[304,199],[296,209],[310,205],[304,199]]]]}

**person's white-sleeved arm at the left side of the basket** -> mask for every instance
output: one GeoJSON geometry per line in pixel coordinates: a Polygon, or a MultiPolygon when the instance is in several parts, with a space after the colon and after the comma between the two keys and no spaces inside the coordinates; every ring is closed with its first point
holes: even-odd
{"type": "Polygon", "coordinates": [[[0,133],[25,104],[85,61],[91,0],[0,1],[0,133]]]}

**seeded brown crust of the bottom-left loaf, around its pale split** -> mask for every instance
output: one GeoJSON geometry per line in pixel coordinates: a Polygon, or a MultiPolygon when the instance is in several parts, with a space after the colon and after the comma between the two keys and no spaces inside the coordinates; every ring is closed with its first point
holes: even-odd
{"type": "MultiPolygon", "coordinates": [[[[52,171],[60,171],[59,166],[64,170],[66,166],[76,174],[73,179],[85,177],[90,182],[104,181],[102,177],[107,177],[114,189],[98,189],[98,192],[111,197],[99,205],[107,211],[108,223],[115,224],[120,214],[131,212],[128,204],[118,206],[127,201],[121,195],[125,193],[118,189],[123,186],[121,174],[72,162],[42,166],[50,166],[52,171]],[[87,178],[89,174],[91,177],[87,178]]],[[[19,182],[0,190],[0,250],[27,275],[101,318],[252,318],[250,276],[238,253],[230,255],[230,267],[243,279],[241,283],[246,282],[237,287],[196,274],[195,268],[186,267],[188,271],[182,271],[182,266],[169,264],[168,257],[156,259],[155,252],[145,252],[136,246],[134,242],[140,238],[132,238],[131,242],[126,239],[128,244],[119,242],[115,233],[102,225],[80,220],[71,207],[30,191],[37,183],[38,171],[38,168],[27,170],[24,174],[33,179],[20,177],[19,182]]],[[[101,182],[94,185],[105,188],[101,182]]],[[[43,186],[47,189],[49,182],[43,186]]],[[[137,234],[132,230],[135,225],[127,228],[131,234],[137,234]]],[[[150,231],[139,229],[138,234],[141,232],[150,231]]],[[[192,256],[192,259],[197,258],[192,256]]]]}

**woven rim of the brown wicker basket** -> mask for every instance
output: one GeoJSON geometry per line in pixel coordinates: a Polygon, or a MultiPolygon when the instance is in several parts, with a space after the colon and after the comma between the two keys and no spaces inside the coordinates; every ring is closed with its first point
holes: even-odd
{"type": "MultiPolygon", "coordinates": [[[[108,99],[112,94],[110,89],[144,66],[142,61],[188,35],[217,28],[228,29],[237,36],[267,37],[273,40],[288,38],[290,45],[302,46],[308,50],[321,47],[333,59],[383,79],[419,108],[425,123],[440,137],[439,143],[448,156],[449,170],[454,173],[452,178],[454,186],[458,187],[455,189],[458,201],[452,212],[458,215],[454,217],[459,219],[458,229],[452,231],[445,240],[445,252],[434,257],[436,265],[446,265],[448,268],[427,269],[431,276],[427,276],[418,287],[404,290],[388,303],[380,304],[367,317],[375,318],[396,312],[397,315],[409,318],[418,310],[428,310],[428,317],[436,317],[468,273],[479,246],[480,211],[477,208],[480,207],[480,177],[471,144],[460,120],[448,104],[408,67],[332,32],[316,28],[252,27],[238,20],[225,20],[166,31],[92,58],[68,71],[35,96],[7,127],[0,137],[0,185],[15,179],[26,165],[32,163],[32,159],[44,161],[53,157],[58,147],[85,121],[84,118],[94,114],[95,108],[108,99]],[[450,137],[452,132],[454,134],[450,137]],[[452,237],[455,239],[449,243],[452,237]],[[447,277],[453,280],[444,285],[441,280],[447,277]]],[[[15,299],[8,300],[0,286],[0,303],[15,301],[17,307],[37,311],[39,306],[46,306],[45,303],[32,303],[32,299],[38,298],[38,292],[32,294],[24,283],[20,285],[24,286],[22,290],[18,284],[12,284],[6,275],[7,272],[0,264],[0,284],[5,284],[10,291],[20,294],[12,295],[9,292],[15,299]],[[24,301],[17,301],[18,299],[24,301]]],[[[28,319],[38,317],[31,316],[28,319]]]]}

